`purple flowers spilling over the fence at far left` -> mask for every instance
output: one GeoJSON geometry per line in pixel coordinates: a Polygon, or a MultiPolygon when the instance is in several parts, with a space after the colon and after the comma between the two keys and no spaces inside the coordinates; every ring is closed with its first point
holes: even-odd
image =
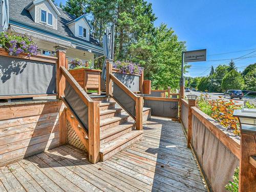
{"type": "Polygon", "coordinates": [[[31,37],[25,35],[16,35],[14,33],[1,32],[0,45],[9,52],[10,55],[28,54],[36,55],[37,45],[34,44],[31,37]]]}

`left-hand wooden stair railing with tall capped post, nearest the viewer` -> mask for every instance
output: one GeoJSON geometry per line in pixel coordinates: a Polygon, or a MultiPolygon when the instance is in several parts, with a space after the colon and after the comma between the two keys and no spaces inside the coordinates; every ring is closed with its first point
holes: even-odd
{"type": "MultiPolygon", "coordinates": [[[[89,161],[96,163],[99,161],[99,101],[93,101],[89,95],[84,91],[74,77],[67,70],[68,60],[66,59],[65,48],[57,47],[56,53],[58,57],[57,61],[57,88],[59,98],[67,106],[66,118],[71,123],[77,136],[84,144],[89,154],[89,161]],[[66,84],[66,83],[69,83],[66,84]],[[83,111],[85,119],[79,118],[75,109],[71,107],[71,103],[65,98],[65,92],[70,91],[67,89],[71,86],[75,91],[76,96],[81,99],[80,105],[86,106],[87,111],[83,111]],[[88,123],[84,123],[84,121],[88,123]]],[[[74,93],[72,93],[74,94],[74,93]]],[[[62,122],[61,126],[66,126],[65,122],[62,122]]]]}

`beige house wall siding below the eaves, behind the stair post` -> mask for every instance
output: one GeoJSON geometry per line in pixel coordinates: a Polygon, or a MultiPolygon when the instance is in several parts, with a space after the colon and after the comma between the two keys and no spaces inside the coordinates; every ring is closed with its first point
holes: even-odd
{"type": "MultiPolygon", "coordinates": [[[[40,50],[55,51],[54,47],[56,45],[54,44],[54,42],[49,42],[49,41],[41,40],[38,38],[33,38],[33,41],[37,44],[38,49],[40,50]]],[[[84,63],[90,60],[92,61],[92,63],[94,63],[93,53],[90,53],[88,51],[82,51],[79,49],[68,48],[66,57],[68,57],[69,61],[77,57],[81,59],[84,63]],[[83,56],[83,53],[85,53],[85,56],[83,56]]]]}

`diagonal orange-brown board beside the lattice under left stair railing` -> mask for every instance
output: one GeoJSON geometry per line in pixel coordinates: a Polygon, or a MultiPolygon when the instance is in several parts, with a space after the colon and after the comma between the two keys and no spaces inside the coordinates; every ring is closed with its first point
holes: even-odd
{"type": "Polygon", "coordinates": [[[75,118],[71,110],[67,109],[66,117],[67,117],[67,120],[70,122],[71,127],[74,129],[77,136],[79,137],[80,141],[88,151],[89,142],[87,139],[88,135],[86,131],[82,129],[82,126],[79,124],[79,121],[75,118]]]}

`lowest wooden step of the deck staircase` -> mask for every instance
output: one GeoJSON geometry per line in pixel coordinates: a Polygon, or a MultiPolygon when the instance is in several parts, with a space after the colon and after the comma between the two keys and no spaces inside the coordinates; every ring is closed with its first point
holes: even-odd
{"type": "Polygon", "coordinates": [[[117,139],[112,140],[111,142],[106,142],[100,145],[100,160],[105,161],[111,156],[123,150],[125,147],[133,144],[142,137],[143,131],[131,131],[118,137],[117,139]]]}

